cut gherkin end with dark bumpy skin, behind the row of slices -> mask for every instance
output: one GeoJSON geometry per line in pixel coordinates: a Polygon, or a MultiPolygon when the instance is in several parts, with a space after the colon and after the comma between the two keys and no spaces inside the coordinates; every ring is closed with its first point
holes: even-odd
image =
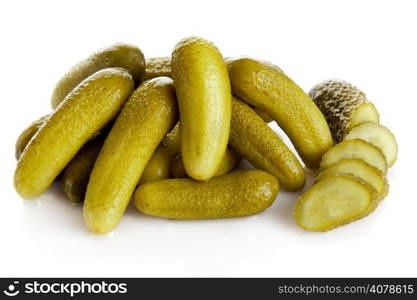
{"type": "Polygon", "coordinates": [[[326,80],[313,87],[309,96],[325,116],[336,143],[356,125],[379,123],[375,106],[361,90],[346,81],[326,80]]]}

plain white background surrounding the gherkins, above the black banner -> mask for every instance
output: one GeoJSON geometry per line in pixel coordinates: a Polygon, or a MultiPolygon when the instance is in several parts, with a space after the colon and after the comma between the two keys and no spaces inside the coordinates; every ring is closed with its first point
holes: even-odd
{"type": "Polygon", "coordinates": [[[0,276],[417,276],[415,3],[2,1],[0,276]],[[241,219],[170,221],[130,207],[103,237],[85,229],[58,185],[19,198],[15,140],[50,112],[61,75],[114,42],[151,57],[188,35],[224,56],[270,60],[305,90],[328,78],[364,90],[400,147],[380,207],[328,233],[294,224],[299,193],[281,192],[269,210],[241,219]]]}

